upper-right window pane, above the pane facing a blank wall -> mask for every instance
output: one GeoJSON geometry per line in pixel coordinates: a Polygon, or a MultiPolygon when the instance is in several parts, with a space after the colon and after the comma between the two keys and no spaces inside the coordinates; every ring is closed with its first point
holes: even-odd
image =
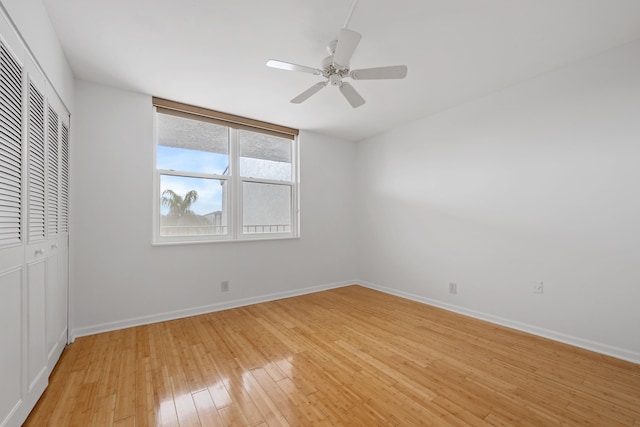
{"type": "Polygon", "coordinates": [[[240,175],[291,181],[291,145],[286,138],[238,130],[240,175]]]}

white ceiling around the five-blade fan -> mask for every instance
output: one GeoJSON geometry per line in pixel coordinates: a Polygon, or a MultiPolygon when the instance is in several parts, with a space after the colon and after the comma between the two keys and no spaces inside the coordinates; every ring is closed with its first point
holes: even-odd
{"type": "Polygon", "coordinates": [[[640,38],[638,0],[359,0],[352,68],[406,64],[405,80],[352,82],[357,109],[317,76],[352,0],[43,0],[77,78],[360,140],[640,38]]]}

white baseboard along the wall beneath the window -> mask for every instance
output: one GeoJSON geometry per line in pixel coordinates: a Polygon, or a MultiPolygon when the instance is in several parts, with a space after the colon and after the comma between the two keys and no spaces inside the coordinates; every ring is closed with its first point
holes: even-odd
{"type": "Polygon", "coordinates": [[[215,311],[228,310],[230,308],[244,307],[247,305],[258,304],[261,302],[275,301],[283,298],[290,298],[299,295],[312,294],[315,292],[326,291],[329,289],[342,288],[355,284],[355,281],[346,281],[338,283],[329,283],[325,285],[311,286],[293,291],[276,292],[273,294],[265,294],[251,298],[242,298],[232,301],[225,301],[218,304],[203,305],[184,310],[169,311],[166,313],[152,314],[148,316],[140,316],[132,319],[119,320],[117,322],[101,323],[93,326],[85,326],[82,328],[74,328],[69,335],[69,342],[72,343],[76,338],[99,334],[102,332],[116,331],[118,329],[131,328],[134,326],[148,325],[151,323],[165,322],[167,320],[180,319],[183,317],[197,316],[199,314],[213,313],[215,311]]]}

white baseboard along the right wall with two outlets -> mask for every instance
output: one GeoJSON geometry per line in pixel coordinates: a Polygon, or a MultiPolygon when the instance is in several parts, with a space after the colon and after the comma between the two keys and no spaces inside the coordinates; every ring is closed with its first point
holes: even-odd
{"type": "Polygon", "coordinates": [[[364,286],[366,288],[384,292],[390,295],[395,295],[395,296],[406,298],[412,301],[421,302],[423,304],[442,308],[448,311],[453,311],[455,313],[463,314],[465,316],[473,317],[480,320],[485,320],[487,322],[495,323],[501,326],[506,326],[507,328],[516,329],[522,332],[527,332],[543,338],[549,338],[551,340],[569,344],[574,347],[580,347],[585,350],[594,351],[596,353],[605,354],[607,356],[615,357],[617,359],[622,359],[628,362],[640,364],[640,353],[626,350],[624,348],[613,347],[607,344],[602,344],[595,341],[590,341],[583,338],[566,335],[561,332],[539,328],[537,326],[529,325],[526,323],[516,322],[514,320],[505,319],[503,317],[493,316],[491,314],[470,310],[470,309],[459,307],[452,304],[447,304],[441,301],[425,298],[420,295],[414,295],[407,292],[398,291],[396,289],[380,286],[375,283],[370,283],[364,280],[357,280],[355,283],[358,285],[364,286]]]}

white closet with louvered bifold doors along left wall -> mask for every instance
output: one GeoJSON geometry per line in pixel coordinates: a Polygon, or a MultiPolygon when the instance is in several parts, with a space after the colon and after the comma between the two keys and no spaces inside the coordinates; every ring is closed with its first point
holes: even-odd
{"type": "Polygon", "coordinates": [[[0,426],[19,426],[67,343],[69,112],[0,13],[0,426]]]}

